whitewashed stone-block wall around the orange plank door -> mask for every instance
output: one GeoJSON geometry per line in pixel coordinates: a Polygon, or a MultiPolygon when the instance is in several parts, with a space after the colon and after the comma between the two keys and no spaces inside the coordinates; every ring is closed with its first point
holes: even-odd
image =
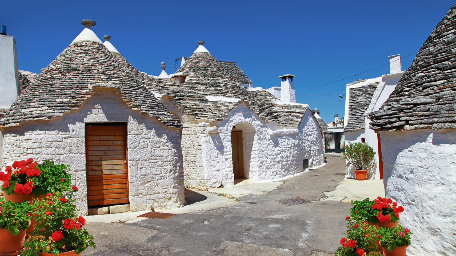
{"type": "Polygon", "coordinates": [[[185,203],[181,131],[133,111],[111,88],[99,88],[78,111],[48,122],[32,121],[6,128],[3,167],[33,158],[69,164],[78,186],[77,206],[87,214],[85,124],[128,122],[128,174],[131,210],[180,207],[185,203]]]}

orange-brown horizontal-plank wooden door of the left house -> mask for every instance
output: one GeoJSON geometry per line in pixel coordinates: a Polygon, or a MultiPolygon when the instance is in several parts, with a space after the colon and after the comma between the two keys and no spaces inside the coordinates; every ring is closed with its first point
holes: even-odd
{"type": "Polygon", "coordinates": [[[126,123],[87,123],[88,206],[128,204],[126,123]]]}

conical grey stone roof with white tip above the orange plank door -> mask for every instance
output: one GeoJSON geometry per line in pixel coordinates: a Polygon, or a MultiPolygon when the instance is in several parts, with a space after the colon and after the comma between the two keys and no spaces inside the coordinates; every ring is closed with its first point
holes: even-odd
{"type": "Polygon", "coordinates": [[[17,98],[0,120],[15,125],[29,120],[45,120],[78,109],[93,94],[93,87],[116,87],[128,106],[169,127],[181,127],[176,116],[158,101],[88,28],[46,67],[17,98]],[[93,37],[95,36],[95,37],[93,37]]]}

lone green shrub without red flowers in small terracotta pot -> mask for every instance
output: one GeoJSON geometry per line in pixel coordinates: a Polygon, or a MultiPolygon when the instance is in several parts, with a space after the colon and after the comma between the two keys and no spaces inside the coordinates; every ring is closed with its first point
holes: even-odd
{"type": "Polygon", "coordinates": [[[344,159],[347,159],[347,166],[353,165],[357,180],[367,179],[367,169],[373,164],[375,152],[373,148],[361,142],[349,142],[345,146],[344,159]]]}

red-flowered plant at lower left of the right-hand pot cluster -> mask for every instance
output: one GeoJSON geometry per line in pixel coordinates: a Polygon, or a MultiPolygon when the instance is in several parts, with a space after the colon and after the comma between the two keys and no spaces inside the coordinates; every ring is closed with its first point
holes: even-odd
{"type": "Polygon", "coordinates": [[[336,256],[380,256],[375,242],[378,239],[377,227],[367,221],[352,220],[347,217],[346,237],[340,241],[341,247],[334,253],[336,256]]]}

